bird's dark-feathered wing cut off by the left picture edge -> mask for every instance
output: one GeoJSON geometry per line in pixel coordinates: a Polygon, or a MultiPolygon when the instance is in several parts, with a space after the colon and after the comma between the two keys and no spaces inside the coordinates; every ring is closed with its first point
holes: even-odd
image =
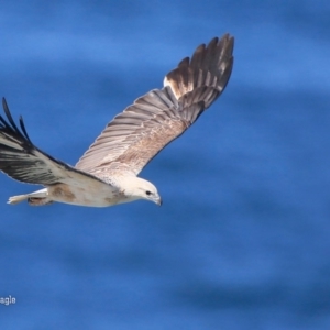
{"type": "Polygon", "coordinates": [[[56,183],[79,184],[88,178],[99,180],[38,150],[31,142],[22,117],[20,130],[4,98],[2,106],[8,121],[0,116],[0,170],[16,180],[44,186],[56,183]]]}

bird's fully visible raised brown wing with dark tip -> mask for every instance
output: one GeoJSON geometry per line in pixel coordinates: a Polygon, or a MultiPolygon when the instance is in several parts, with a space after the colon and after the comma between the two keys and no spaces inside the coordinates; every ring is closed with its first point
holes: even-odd
{"type": "Polygon", "coordinates": [[[105,177],[112,169],[142,168],[170,141],[183,134],[223,91],[233,65],[233,37],[215,37],[200,45],[154,89],[107,125],[76,168],[105,177]]]}

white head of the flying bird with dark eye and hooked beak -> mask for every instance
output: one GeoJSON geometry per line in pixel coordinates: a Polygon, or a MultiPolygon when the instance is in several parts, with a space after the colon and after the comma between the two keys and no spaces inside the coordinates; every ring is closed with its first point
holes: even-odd
{"type": "Polygon", "coordinates": [[[150,182],[132,176],[127,177],[124,180],[124,195],[130,200],[146,199],[155,202],[156,205],[162,205],[162,198],[157,191],[157,188],[150,182]]]}

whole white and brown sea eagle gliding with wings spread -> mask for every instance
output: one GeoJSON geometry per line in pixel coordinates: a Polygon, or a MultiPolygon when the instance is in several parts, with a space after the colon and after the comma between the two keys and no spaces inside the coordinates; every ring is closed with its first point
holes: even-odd
{"type": "Polygon", "coordinates": [[[43,185],[9,204],[54,201],[108,207],[138,199],[162,205],[156,187],[138,177],[170,141],[182,135],[224,90],[233,66],[233,37],[224,34],[200,45],[153,89],[110,121],[76,166],[41,151],[30,140],[23,119],[14,122],[6,99],[0,116],[0,170],[19,182],[43,185]]]}

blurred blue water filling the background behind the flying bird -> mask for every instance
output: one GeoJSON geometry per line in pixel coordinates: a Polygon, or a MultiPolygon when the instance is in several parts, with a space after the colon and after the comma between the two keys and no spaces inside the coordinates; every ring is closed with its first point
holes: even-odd
{"type": "Polygon", "coordinates": [[[162,208],[6,204],[1,329],[330,329],[330,2],[8,1],[0,95],[75,164],[197,45],[230,32],[221,98],[141,176],[162,208]]]}

